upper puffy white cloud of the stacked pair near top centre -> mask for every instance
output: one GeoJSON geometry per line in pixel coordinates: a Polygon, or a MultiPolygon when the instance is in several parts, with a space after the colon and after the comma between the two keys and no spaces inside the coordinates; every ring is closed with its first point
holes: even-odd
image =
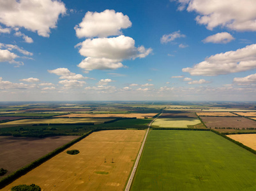
{"type": "Polygon", "coordinates": [[[107,37],[122,34],[121,29],[132,26],[127,15],[114,10],[101,13],[87,11],[82,22],[75,26],[77,37],[107,37]]]}

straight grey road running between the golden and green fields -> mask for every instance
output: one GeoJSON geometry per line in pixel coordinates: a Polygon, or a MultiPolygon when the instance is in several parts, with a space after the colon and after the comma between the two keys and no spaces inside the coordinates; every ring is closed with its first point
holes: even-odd
{"type": "MultiPolygon", "coordinates": [[[[158,115],[158,117],[160,117],[162,114],[163,114],[163,111],[162,111],[162,113],[160,113],[160,115],[158,115]]],[[[129,179],[128,179],[127,185],[126,185],[126,187],[125,187],[125,191],[130,190],[130,188],[131,188],[131,186],[132,186],[132,181],[133,181],[133,178],[134,178],[134,176],[135,176],[135,173],[136,173],[136,170],[137,170],[139,161],[140,161],[140,157],[141,157],[142,151],[143,151],[143,149],[144,149],[144,145],[145,145],[145,143],[146,143],[146,139],[147,139],[147,135],[148,135],[148,133],[149,133],[150,126],[151,126],[151,124],[153,124],[154,120],[156,120],[158,117],[154,118],[154,119],[150,122],[149,127],[147,128],[146,135],[145,135],[145,137],[144,137],[144,139],[143,139],[143,141],[142,141],[142,144],[141,144],[141,146],[140,146],[140,150],[139,150],[139,153],[138,153],[138,155],[137,155],[137,159],[135,160],[134,166],[133,166],[133,168],[132,168],[132,173],[130,174],[130,177],[129,177],[129,179]]]]}

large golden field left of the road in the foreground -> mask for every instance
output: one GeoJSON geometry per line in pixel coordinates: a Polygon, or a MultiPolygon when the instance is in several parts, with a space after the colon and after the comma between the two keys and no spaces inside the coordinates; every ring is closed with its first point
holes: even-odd
{"type": "Polygon", "coordinates": [[[145,132],[94,132],[68,148],[79,154],[59,153],[3,190],[31,183],[42,190],[124,190],[145,132]]]}

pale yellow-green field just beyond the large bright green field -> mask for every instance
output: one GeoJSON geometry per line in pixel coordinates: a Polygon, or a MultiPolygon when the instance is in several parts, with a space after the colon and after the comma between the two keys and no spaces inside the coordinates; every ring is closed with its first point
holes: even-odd
{"type": "Polygon", "coordinates": [[[153,122],[152,126],[186,128],[188,125],[200,123],[198,118],[158,118],[153,122]]]}

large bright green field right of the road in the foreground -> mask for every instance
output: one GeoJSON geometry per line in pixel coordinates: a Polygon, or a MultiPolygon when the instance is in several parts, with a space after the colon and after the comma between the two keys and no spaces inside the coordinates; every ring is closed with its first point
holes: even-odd
{"type": "Polygon", "coordinates": [[[213,132],[154,130],[131,190],[256,190],[255,168],[256,155],[213,132]]]}

